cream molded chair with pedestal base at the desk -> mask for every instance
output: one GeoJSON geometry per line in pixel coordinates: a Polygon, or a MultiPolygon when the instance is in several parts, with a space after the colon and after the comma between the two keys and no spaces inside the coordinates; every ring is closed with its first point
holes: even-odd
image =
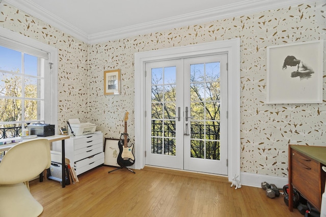
{"type": "Polygon", "coordinates": [[[43,206],[30,193],[28,181],[51,164],[47,139],[18,143],[0,163],[0,216],[38,216],[43,206]]]}

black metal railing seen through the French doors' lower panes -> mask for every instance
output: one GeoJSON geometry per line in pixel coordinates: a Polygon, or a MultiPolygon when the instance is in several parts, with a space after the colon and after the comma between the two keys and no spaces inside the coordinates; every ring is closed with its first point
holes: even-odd
{"type": "MultiPolygon", "coordinates": [[[[191,157],[220,160],[220,124],[214,123],[191,124],[191,157]]],[[[175,123],[152,120],[152,153],[173,156],[175,145],[175,123]]]]}

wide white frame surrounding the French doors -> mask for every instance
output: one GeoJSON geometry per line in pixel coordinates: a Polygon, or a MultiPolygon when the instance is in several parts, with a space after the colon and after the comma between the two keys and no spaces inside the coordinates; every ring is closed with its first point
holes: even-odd
{"type": "MultiPolygon", "coordinates": [[[[145,166],[145,63],[149,61],[228,54],[228,179],[240,180],[240,39],[208,42],[134,54],[135,169],[145,166]]],[[[150,112],[150,111],[148,111],[150,112]]]]}

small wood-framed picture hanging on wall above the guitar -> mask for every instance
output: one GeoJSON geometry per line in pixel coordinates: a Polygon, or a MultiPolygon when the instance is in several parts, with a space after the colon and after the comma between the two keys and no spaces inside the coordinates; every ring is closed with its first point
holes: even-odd
{"type": "Polygon", "coordinates": [[[104,71],[104,95],[120,94],[120,69],[104,71]]]}

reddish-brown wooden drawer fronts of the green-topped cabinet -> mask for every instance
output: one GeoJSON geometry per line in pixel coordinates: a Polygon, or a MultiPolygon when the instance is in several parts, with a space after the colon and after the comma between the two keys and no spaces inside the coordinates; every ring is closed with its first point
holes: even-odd
{"type": "Polygon", "coordinates": [[[319,164],[292,150],[292,184],[315,207],[320,207],[319,164]]]}

